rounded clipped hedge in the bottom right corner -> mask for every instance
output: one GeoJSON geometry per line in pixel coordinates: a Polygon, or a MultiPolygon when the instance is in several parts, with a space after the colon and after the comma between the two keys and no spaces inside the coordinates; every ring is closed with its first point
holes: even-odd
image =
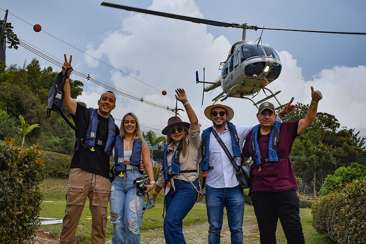
{"type": "Polygon", "coordinates": [[[365,243],[366,177],[313,203],[313,227],[338,243],[365,243]]]}

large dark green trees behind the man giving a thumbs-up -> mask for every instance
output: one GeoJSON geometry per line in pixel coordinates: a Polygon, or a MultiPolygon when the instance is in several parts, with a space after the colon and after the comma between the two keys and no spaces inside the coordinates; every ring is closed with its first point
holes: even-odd
{"type": "MultiPolygon", "coordinates": [[[[309,105],[296,104],[297,110],[288,114],[284,121],[303,118],[309,105]]],[[[365,164],[365,138],[354,129],[341,128],[334,115],[317,113],[312,126],[294,141],[291,161],[294,172],[301,178],[300,189],[316,194],[328,174],[351,162],[365,164]]]]}

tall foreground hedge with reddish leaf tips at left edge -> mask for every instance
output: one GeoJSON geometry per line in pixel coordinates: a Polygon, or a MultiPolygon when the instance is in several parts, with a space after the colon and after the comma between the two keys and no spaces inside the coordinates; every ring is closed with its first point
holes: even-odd
{"type": "Polygon", "coordinates": [[[37,145],[17,147],[0,141],[0,243],[31,243],[39,220],[45,177],[37,145]]]}

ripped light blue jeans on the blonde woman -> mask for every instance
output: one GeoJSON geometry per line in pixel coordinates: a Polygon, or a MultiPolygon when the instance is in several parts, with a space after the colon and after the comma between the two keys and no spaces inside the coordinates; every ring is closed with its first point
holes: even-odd
{"type": "Polygon", "coordinates": [[[137,196],[133,181],[142,174],[137,169],[128,169],[123,177],[115,176],[110,195],[112,243],[140,243],[142,204],[145,194],[137,196]]]}

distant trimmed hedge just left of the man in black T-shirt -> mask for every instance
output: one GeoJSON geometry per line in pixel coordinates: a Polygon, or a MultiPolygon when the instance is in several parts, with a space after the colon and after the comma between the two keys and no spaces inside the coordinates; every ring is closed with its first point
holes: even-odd
{"type": "Polygon", "coordinates": [[[44,160],[47,176],[68,177],[71,156],[45,151],[44,160]]]}

